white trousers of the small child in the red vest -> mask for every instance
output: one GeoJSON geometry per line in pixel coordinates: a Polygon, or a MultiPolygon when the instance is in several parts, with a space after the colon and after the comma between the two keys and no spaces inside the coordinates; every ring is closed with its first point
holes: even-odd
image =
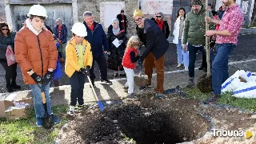
{"type": "Polygon", "coordinates": [[[126,78],[127,78],[126,87],[129,87],[128,94],[132,94],[134,93],[134,69],[125,68],[125,67],[124,69],[125,69],[126,78]]]}

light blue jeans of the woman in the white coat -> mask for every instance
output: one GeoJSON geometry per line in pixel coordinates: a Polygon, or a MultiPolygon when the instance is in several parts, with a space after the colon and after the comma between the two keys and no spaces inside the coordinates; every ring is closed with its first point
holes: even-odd
{"type": "Polygon", "coordinates": [[[184,66],[189,65],[189,53],[188,51],[183,51],[182,49],[182,39],[178,39],[177,47],[177,55],[178,55],[178,64],[184,64],[184,66]]]}

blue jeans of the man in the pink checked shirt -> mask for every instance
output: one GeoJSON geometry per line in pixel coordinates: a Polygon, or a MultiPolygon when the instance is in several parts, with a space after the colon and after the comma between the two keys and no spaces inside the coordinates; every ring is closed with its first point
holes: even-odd
{"type": "Polygon", "coordinates": [[[234,44],[217,44],[217,55],[212,63],[212,88],[215,95],[221,95],[222,84],[229,78],[229,57],[236,48],[234,44]]]}

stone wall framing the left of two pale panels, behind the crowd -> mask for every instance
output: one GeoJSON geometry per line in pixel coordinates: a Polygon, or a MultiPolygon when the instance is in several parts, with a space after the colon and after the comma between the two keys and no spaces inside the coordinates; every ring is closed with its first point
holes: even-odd
{"type": "MultiPolygon", "coordinates": [[[[125,2],[125,14],[129,21],[127,33],[128,37],[135,34],[136,25],[134,24],[134,10],[138,8],[138,0],[77,0],[78,2],[78,21],[83,21],[82,14],[89,10],[94,14],[94,20],[104,23],[100,19],[100,2],[125,2]]],[[[106,30],[106,29],[105,29],[106,30]]]]}

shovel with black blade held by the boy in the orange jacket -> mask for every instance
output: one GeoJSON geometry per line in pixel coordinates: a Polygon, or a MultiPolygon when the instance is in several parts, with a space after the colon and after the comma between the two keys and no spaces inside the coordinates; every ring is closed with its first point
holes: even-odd
{"type": "Polygon", "coordinates": [[[54,115],[49,115],[47,112],[46,95],[44,92],[46,85],[47,84],[42,84],[42,86],[40,86],[38,84],[38,87],[41,89],[42,104],[45,109],[45,115],[41,118],[42,119],[42,127],[45,129],[50,129],[52,126],[54,126],[54,115]]]}

